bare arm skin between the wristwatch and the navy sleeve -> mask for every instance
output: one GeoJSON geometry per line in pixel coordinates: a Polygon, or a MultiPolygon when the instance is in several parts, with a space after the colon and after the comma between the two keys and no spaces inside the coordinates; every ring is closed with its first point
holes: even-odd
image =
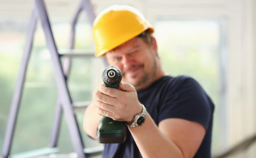
{"type": "Polygon", "coordinates": [[[145,158],[193,158],[205,134],[202,125],[184,119],[165,119],[157,127],[148,113],[144,125],[129,130],[145,158]]]}

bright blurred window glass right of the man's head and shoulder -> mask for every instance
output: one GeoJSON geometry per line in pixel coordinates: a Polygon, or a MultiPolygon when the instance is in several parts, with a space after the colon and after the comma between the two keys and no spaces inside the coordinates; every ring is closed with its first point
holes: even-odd
{"type": "Polygon", "coordinates": [[[225,133],[221,129],[219,86],[220,22],[218,20],[158,20],[154,36],[164,70],[171,76],[195,78],[215,104],[212,151],[223,149],[225,133]]]}

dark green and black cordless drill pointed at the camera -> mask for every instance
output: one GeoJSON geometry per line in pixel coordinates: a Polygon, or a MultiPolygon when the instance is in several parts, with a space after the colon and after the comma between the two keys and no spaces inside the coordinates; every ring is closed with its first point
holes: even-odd
{"type": "MultiPolygon", "coordinates": [[[[117,89],[122,73],[118,67],[109,66],[103,71],[102,79],[106,87],[117,89]]],[[[123,143],[126,140],[125,123],[103,116],[97,128],[97,140],[99,143],[123,143]]]]}

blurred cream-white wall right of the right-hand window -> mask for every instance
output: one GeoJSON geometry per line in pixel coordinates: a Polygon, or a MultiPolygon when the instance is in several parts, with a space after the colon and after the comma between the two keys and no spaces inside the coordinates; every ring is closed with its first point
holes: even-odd
{"type": "Polygon", "coordinates": [[[228,115],[233,144],[256,129],[255,0],[229,0],[228,115]]]}

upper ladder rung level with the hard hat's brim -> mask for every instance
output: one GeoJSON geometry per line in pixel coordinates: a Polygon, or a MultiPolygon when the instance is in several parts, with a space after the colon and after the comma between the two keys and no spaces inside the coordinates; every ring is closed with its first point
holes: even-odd
{"type": "Polygon", "coordinates": [[[87,57],[93,58],[94,51],[84,51],[84,50],[60,50],[59,55],[63,57],[87,57]]]}

